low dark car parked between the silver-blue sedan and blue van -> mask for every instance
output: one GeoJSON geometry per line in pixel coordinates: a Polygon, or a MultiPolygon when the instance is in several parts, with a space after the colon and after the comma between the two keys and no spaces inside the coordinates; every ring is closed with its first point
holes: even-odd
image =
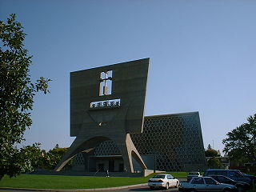
{"type": "Polygon", "coordinates": [[[238,188],[238,192],[250,190],[250,184],[247,182],[237,182],[237,181],[234,181],[233,179],[227,178],[226,176],[223,176],[223,175],[211,175],[210,177],[214,178],[217,182],[226,183],[226,184],[236,186],[238,188]]]}

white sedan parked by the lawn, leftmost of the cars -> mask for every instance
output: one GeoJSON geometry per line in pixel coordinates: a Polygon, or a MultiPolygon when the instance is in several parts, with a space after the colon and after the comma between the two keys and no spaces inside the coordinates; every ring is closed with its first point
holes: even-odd
{"type": "Polygon", "coordinates": [[[150,186],[151,190],[159,187],[164,187],[168,190],[170,186],[178,187],[179,181],[171,174],[156,174],[153,178],[150,178],[148,186],[150,186]]]}

